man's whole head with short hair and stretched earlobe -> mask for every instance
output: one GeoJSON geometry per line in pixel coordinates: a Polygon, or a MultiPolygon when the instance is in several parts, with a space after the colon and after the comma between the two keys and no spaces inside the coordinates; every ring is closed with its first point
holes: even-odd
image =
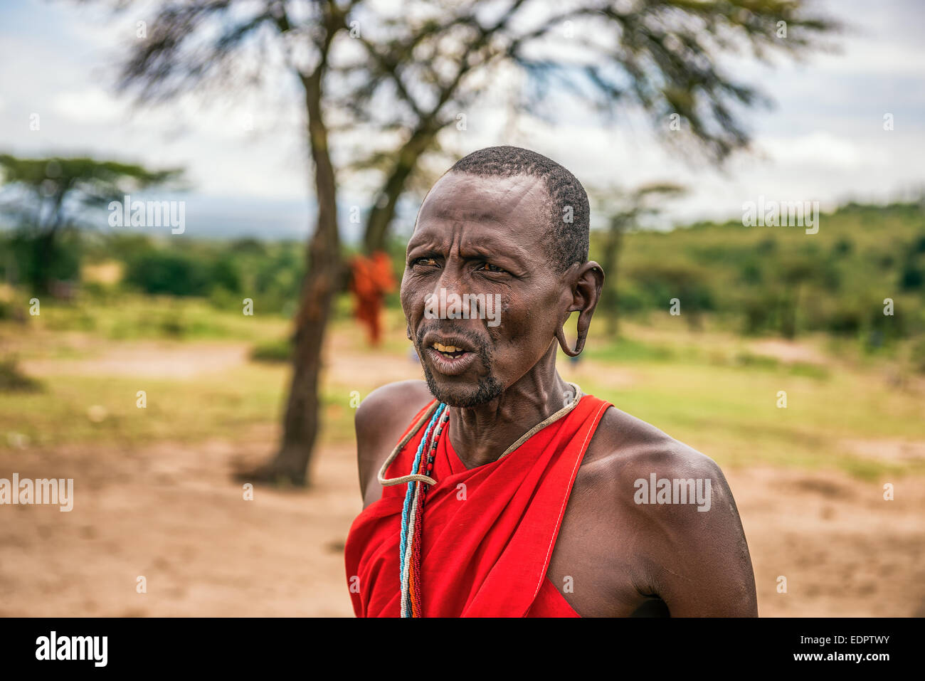
{"type": "Polygon", "coordinates": [[[554,365],[575,310],[584,342],[603,281],[587,262],[588,217],[572,173],[518,147],[467,155],[431,188],[408,242],[401,305],[438,400],[489,402],[544,357],[554,365]]]}

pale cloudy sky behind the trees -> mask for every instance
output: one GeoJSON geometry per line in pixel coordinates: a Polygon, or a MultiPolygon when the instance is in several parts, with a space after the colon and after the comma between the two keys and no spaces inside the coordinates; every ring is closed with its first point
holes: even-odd
{"type": "MultiPolygon", "coordinates": [[[[816,200],[825,209],[925,187],[925,3],[817,5],[849,27],[837,39],[839,53],[799,64],[778,59],[773,68],[730,63],[735,76],[758,84],[774,105],[748,113],[753,151],[722,169],[677,155],[632,117],[611,126],[576,115],[554,126],[529,116],[512,124],[499,105],[504,93],[468,112],[467,130],[452,142],[460,153],[499,143],[527,146],[570,168],[586,186],[685,184],[690,193],[670,209],[677,223],[741,216],[742,205],[759,195],[816,200]],[[893,115],[892,131],[883,130],[885,114],[893,115]]],[[[0,153],[183,166],[192,186],[183,196],[186,234],[305,234],[310,181],[297,107],[252,94],[189,96],[138,111],[113,93],[120,46],[131,42],[145,11],[142,4],[112,19],[95,6],[63,0],[3,3],[0,153]],[[30,130],[33,114],[39,130],[30,130]]],[[[362,190],[345,190],[345,204],[368,201],[362,190]]]]}

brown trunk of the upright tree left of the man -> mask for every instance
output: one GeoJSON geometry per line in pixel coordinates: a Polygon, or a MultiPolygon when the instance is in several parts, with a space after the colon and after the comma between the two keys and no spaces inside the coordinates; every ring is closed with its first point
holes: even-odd
{"type": "Polygon", "coordinates": [[[339,291],[342,268],[337,185],[321,111],[322,72],[323,66],[319,66],[311,76],[303,79],[318,217],[306,251],[308,271],[302,282],[299,312],[295,318],[295,356],[283,419],[283,437],[274,460],[255,474],[264,481],[299,486],[309,484],[309,464],[320,425],[318,383],[321,353],[331,303],[339,291]]]}

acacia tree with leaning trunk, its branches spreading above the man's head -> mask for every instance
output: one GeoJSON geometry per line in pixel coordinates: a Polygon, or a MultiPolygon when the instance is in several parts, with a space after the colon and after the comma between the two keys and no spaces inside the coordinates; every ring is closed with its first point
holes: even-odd
{"type": "Polygon", "coordinates": [[[402,3],[391,15],[358,6],[356,37],[364,52],[338,68],[352,87],[337,101],[352,113],[351,126],[395,133],[378,135],[379,145],[370,143],[376,136],[364,137],[354,155],[354,167],[375,167],[381,176],[365,221],[365,249],[385,246],[398,200],[422,158],[440,149],[441,132],[459,127],[491,82],[512,71],[526,83],[516,101],[521,110],[555,120],[563,103],[604,118],[635,107],[665,130],[664,142],[689,143],[722,162],[748,142],[736,107],[765,101],[721,65],[723,58],[798,55],[837,28],[804,5],[512,0],[503,11],[487,11],[475,0],[427,0],[402,3]],[[549,93],[566,96],[550,101],[549,93]]]}

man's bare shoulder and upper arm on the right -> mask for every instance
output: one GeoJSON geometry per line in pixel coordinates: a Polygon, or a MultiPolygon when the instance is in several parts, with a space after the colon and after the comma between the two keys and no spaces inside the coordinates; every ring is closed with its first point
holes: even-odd
{"type": "Polygon", "coordinates": [[[719,465],[616,408],[591,444],[569,501],[573,526],[602,527],[602,555],[621,557],[635,588],[672,614],[757,614],[745,533],[719,465]]]}

